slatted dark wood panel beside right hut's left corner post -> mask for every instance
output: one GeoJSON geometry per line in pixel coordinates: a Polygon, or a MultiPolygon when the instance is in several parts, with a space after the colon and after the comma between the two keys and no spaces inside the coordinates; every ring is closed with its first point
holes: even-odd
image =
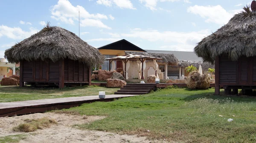
{"type": "Polygon", "coordinates": [[[230,60],[228,57],[219,59],[219,82],[220,84],[236,84],[237,62],[230,60]]]}

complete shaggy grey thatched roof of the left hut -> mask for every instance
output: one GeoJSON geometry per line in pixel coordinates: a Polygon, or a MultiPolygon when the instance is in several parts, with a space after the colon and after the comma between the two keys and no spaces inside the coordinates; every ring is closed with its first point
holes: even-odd
{"type": "Polygon", "coordinates": [[[7,49],[5,58],[11,63],[21,60],[55,62],[69,58],[90,66],[101,65],[105,60],[105,56],[98,49],[81,40],[76,34],[49,24],[38,33],[7,49]]]}

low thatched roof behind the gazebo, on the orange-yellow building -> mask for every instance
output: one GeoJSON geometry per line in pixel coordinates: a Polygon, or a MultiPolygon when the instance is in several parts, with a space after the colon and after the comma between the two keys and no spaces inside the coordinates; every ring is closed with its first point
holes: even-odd
{"type": "Polygon", "coordinates": [[[138,55],[144,55],[148,57],[158,57],[162,60],[157,60],[157,62],[160,63],[168,63],[169,65],[178,65],[178,60],[174,56],[174,54],[170,53],[151,53],[151,52],[137,52],[137,51],[125,51],[125,54],[138,54],[138,55]]]}

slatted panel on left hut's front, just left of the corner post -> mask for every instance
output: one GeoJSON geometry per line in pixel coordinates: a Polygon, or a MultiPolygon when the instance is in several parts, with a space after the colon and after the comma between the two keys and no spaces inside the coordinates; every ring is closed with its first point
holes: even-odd
{"type": "Polygon", "coordinates": [[[59,81],[59,61],[49,61],[49,81],[59,81]]]}

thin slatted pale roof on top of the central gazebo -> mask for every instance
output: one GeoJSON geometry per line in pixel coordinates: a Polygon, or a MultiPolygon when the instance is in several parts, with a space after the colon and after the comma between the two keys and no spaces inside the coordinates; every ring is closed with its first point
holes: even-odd
{"type": "Polygon", "coordinates": [[[111,57],[106,60],[140,60],[140,59],[162,60],[161,58],[158,58],[158,57],[149,57],[149,56],[138,55],[138,54],[127,54],[124,56],[111,57]]]}

